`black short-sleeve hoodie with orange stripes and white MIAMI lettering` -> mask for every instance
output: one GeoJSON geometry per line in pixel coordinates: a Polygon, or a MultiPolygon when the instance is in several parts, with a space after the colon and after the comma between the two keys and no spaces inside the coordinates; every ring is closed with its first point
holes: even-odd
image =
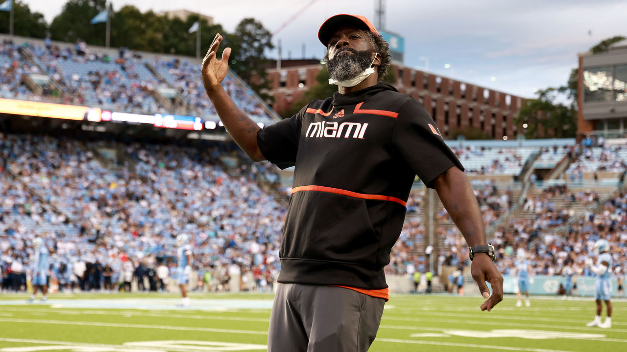
{"type": "Polygon", "coordinates": [[[463,170],[424,107],[384,84],[314,100],[257,141],[270,162],[295,166],[280,282],[387,287],[415,175],[431,187],[463,170]]]}

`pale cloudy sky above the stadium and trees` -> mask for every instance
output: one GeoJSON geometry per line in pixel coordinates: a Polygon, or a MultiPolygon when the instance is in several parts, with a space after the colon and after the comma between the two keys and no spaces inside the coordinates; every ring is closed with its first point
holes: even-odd
{"type": "MultiPolygon", "coordinates": [[[[50,23],[66,0],[23,0],[50,23]]],[[[377,0],[112,0],[142,11],[187,9],[232,31],[243,18],[261,21],[282,42],[282,57],[322,58],[317,32],[339,13],[375,19],[377,0]]],[[[404,65],[530,98],[540,88],[564,85],[577,53],[599,41],[627,36],[623,0],[386,0],[383,29],[404,37],[404,65]]],[[[115,24],[112,24],[115,26],[115,24]]],[[[379,26],[377,26],[378,29],[379,26]]],[[[269,54],[277,57],[278,50],[269,54]]]]}

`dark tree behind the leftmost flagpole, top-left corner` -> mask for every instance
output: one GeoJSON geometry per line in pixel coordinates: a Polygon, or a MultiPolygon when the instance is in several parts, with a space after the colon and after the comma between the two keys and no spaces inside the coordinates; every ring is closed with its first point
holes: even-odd
{"type": "MultiPolygon", "coordinates": [[[[0,1],[4,3],[4,0],[0,1]]],[[[9,33],[9,11],[0,11],[0,33],[9,33]]],[[[41,13],[33,13],[23,1],[13,1],[13,33],[16,36],[45,38],[48,24],[41,13]]]]}

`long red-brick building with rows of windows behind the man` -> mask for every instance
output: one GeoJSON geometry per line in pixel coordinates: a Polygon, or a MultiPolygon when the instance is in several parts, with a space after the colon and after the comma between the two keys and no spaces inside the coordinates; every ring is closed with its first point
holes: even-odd
{"type": "MultiPolygon", "coordinates": [[[[319,60],[282,60],[281,68],[273,63],[267,70],[270,93],[275,97],[273,108],[287,110],[308,88],[317,82],[315,76],[322,68],[319,60]]],[[[515,138],[519,127],[514,125],[520,106],[520,96],[490,90],[433,73],[414,70],[393,63],[391,70],[397,78],[394,85],[420,101],[433,116],[445,137],[453,132],[474,127],[495,139],[515,138]]]]}

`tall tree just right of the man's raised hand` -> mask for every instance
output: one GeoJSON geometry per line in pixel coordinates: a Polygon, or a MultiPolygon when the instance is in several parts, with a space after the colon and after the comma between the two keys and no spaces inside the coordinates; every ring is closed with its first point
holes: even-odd
{"type": "Polygon", "coordinates": [[[269,88],[265,68],[270,62],[266,51],[274,48],[270,31],[254,18],[245,18],[237,25],[234,33],[223,37],[221,46],[233,49],[229,58],[231,70],[246,81],[261,98],[271,102],[272,97],[265,93],[269,88]]]}

